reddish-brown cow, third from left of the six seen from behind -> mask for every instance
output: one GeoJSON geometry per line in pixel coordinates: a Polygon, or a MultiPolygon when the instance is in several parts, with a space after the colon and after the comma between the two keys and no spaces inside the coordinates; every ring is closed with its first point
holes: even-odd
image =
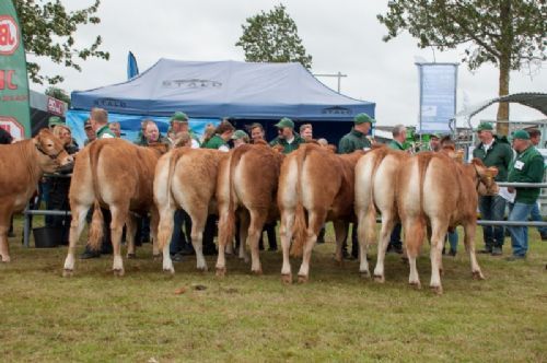
{"type": "Polygon", "coordinates": [[[219,173],[219,256],[217,274],[226,271],[224,248],[234,235],[235,214],[240,218],[240,257],[251,247],[251,271],[261,273],[258,241],[265,222],[276,221],[279,169],[284,155],[266,143],[234,149],[219,173]]]}

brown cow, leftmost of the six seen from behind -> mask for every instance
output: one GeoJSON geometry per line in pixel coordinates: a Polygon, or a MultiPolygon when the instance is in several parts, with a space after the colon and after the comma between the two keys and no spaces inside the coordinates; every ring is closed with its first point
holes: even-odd
{"type": "Polygon", "coordinates": [[[103,215],[98,207],[108,208],[112,213],[114,274],[124,274],[120,242],[126,223],[128,257],[135,255],[136,225],[130,218],[130,211],[136,213],[150,211],[154,255],[158,254],[155,241],[159,218],[152,185],[155,164],[165,151],[165,145],[143,148],[121,139],[102,139],[93,141],[78,154],[69,192],[72,222],[63,276],[71,276],[74,270],[75,245],[85,225],[85,215],[94,203],[89,243],[92,248],[100,248],[103,215]]]}

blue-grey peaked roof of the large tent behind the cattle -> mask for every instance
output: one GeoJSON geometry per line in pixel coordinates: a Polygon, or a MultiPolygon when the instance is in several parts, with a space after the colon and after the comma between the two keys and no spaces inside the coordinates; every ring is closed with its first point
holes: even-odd
{"type": "Polygon", "coordinates": [[[127,82],[72,92],[72,107],[194,118],[350,120],[374,117],[374,103],[344,96],[300,63],[179,61],[160,59],[127,82]]]}

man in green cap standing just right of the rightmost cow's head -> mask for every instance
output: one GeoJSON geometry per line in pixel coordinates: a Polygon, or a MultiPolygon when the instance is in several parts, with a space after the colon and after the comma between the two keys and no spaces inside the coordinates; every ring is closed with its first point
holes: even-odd
{"type": "MultiPolygon", "coordinates": [[[[486,166],[498,168],[496,182],[507,182],[508,167],[513,159],[513,152],[507,139],[496,137],[493,134],[493,126],[489,122],[480,124],[477,132],[480,143],[473,151],[473,157],[480,159],[486,166]]],[[[478,207],[482,220],[503,221],[505,203],[505,199],[501,196],[479,197],[478,207]]],[[[482,238],[485,241],[485,249],[479,250],[480,254],[502,255],[503,226],[484,225],[482,238]]]]}

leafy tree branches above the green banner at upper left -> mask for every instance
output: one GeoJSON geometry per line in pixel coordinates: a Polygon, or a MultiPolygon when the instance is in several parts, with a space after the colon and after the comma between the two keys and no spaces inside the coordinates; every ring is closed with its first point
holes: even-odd
{"type": "MultiPolygon", "coordinates": [[[[3,1],[3,0],[2,0],[3,1]]],[[[101,20],[94,14],[97,12],[100,0],[89,8],[70,11],[65,9],[60,0],[35,1],[14,0],[14,5],[23,30],[23,42],[27,54],[46,57],[55,63],[63,65],[81,71],[78,60],[90,57],[108,59],[109,54],[100,49],[100,35],[89,47],[78,48],[74,34],[79,25],[98,24],[101,20]]],[[[63,81],[61,75],[40,74],[40,67],[36,62],[27,62],[30,79],[39,84],[47,81],[56,84],[63,81]]]]}

